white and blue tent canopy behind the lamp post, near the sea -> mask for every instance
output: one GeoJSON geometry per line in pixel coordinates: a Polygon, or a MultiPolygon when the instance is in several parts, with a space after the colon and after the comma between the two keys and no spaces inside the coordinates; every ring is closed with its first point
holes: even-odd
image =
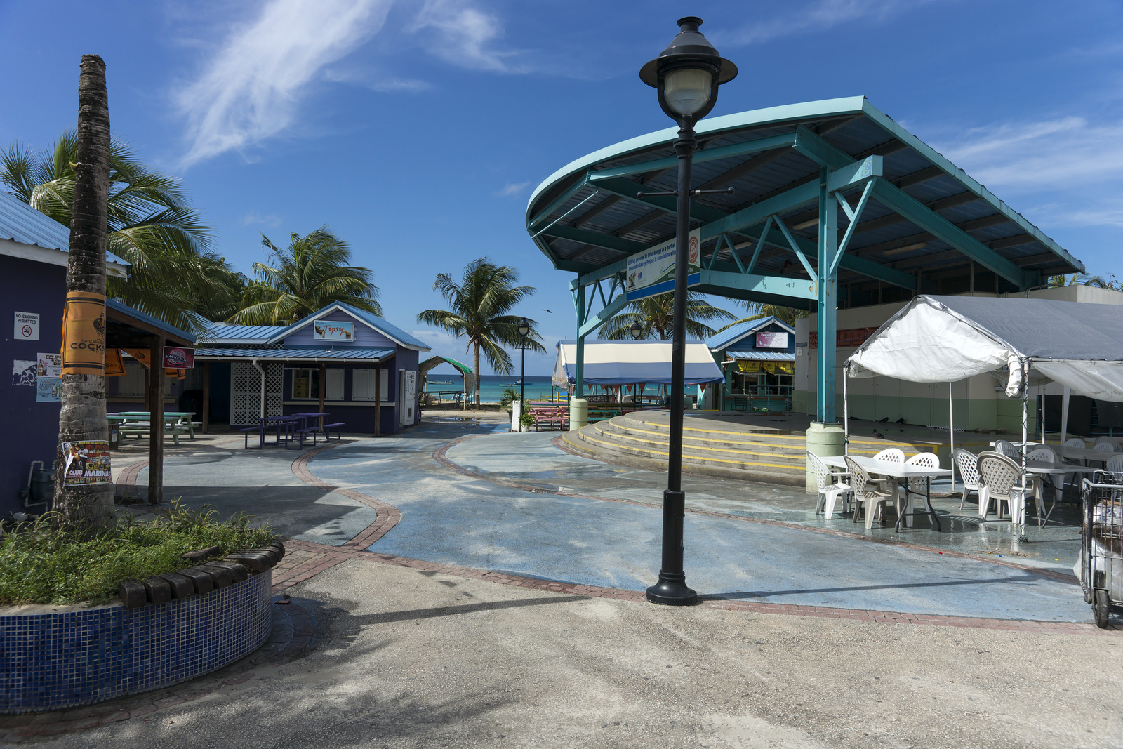
{"type": "MultiPolygon", "coordinates": [[[[586,340],[585,384],[670,384],[669,340],[586,340]]],[[[577,341],[559,340],[554,384],[568,387],[577,382],[577,341]]],[[[686,383],[724,382],[705,341],[686,341],[686,383]]]]}

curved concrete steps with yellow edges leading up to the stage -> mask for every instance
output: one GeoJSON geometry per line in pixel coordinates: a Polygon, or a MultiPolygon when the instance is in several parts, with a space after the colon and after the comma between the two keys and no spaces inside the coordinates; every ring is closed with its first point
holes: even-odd
{"type": "MultiPolygon", "coordinates": [[[[683,429],[683,467],[688,473],[803,486],[806,438],[803,435],[724,431],[697,422],[683,429]]],[[[563,436],[576,451],[606,463],[667,469],[670,428],[658,422],[614,417],[563,436]]]]}

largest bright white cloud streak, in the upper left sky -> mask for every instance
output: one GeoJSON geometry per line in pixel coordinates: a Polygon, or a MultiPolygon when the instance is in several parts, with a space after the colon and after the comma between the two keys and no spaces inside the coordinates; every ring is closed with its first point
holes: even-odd
{"type": "Polygon", "coordinates": [[[270,0],[177,93],[190,165],[284,130],[302,90],[385,22],[392,0],[270,0]]]}

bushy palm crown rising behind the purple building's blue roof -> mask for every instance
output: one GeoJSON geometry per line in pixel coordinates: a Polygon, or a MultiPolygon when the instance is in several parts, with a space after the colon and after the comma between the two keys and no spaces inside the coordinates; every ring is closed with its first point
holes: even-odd
{"type": "Polygon", "coordinates": [[[350,265],[350,247],[328,227],[303,237],[292,232],[284,249],[262,235],[262,246],[274,264],[254,263],[257,281],[246,286],[231,322],[287,325],[332,302],[382,314],[371,271],[350,265]]]}

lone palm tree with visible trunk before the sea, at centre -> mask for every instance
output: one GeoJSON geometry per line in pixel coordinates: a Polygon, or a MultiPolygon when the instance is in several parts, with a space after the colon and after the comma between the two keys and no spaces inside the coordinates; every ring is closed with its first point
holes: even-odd
{"type": "MultiPolygon", "coordinates": [[[[428,322],[457,338],[467,337],[465,351],[475,349],[476,403],[480,403],[480,350],[495,374],[511,373],[511,357],[503,346],[522,346],[519,335],[519,318],[508,314],[519,302],[535,293],[533,286],[517,286],[519,272],[510,265],[495,265],[486,257],[478,257],[464,267],[460,283],[453,281],[447,273],[441,273],[433,281],[432,290],[439,291],[451,310],[426,310],[418,314],[420,322],[428,322]]],[[[546,353],[538,341],[533,320],[530,322],[530,335],[527,336],[527,348],[546,353]]]]}

